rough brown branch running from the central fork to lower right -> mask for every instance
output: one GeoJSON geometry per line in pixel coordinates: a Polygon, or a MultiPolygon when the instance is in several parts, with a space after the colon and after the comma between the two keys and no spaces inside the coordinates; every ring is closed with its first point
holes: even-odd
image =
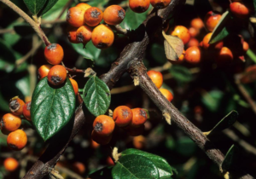
{"type": "MultiPolygon", "coordinates": [[[[221,164],[224,161],[224,154],[221,153],[218,148],[214,147],[211,141],[207,139],[207,136],[203,135],[194,124],[192,124],[188,118],[184,117],[171,102],[166,100],[166,97],[160,93],[160,90],[156,88],[152,80],[148,77],[147,69],[143,65],[142,61],[132,61],[130,64],[131,77],[139,78],[140,87],[146,92],[149,98],[154,104],[162,111],[162,113],[169,113],[172,116],[172,122],[183,130],[195,144],[200,147],[212,161],[221,168],[221,164]]],[[[230,171],[231,178],[249,179],[253,178],[242,170],[230,171]]]]}

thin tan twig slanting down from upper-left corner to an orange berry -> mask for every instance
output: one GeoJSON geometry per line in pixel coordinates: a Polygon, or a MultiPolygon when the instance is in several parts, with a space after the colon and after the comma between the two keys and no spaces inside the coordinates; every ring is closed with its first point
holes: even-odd
{"type": "Polygon", "coordinates": [[[48,38],[45,36],[43,30],[41,29],[40,25],[38,26],[38,24],[32,20],[31,17],[29,17],[23,10],[21,10],[18,6],[15,5],[15,3],[12,3],[9,0],[0,0],[1,2],[5,3],[7,6],[9,6],[10,9],[13,9],[17,14],[19,14],[24,20],[26,20],[27,23],[30,24],[30,26],[32,26],[32,28],[35,30],[35,32],[38,33],[39,38],[42,39],[42,41],[44,42],[44,44],[47,46],[49,45],[49,40],[48,38]]]}

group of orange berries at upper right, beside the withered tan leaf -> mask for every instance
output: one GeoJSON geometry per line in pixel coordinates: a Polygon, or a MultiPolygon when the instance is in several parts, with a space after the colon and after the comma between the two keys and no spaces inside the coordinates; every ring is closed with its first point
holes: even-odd
{"type": "MultiPolygon", "coordinates": [[[[238,2],[235,2],[235,6],[236,4],[244,6],[238,2]]],[[[236,6],[236,9],[239,9],[240,5],[236,6]]],[[[239,13],[237,13],[238,11],[234,10],[235,8],[232,8],[233,10],[231,10],[231,6],[233,7],[234,3],[230,3],[230,11],[234,15],[240,18],[247,17],[248,13],[247,15],[239,15],[239,13]]],[[[209,44],[209,41],[212,38],[212,31],[214,30],[215,26],[217,26],[221,17],[221,14],[210,11],[206,14],[204,22],[200,18],[191,20],[189,29],[185,26],[175,26],[174,30],[170,32],[170,35],[181,38],[183,40],[183,44],[188,48],[183,51],[183,55],[179,56],[177,62],[185,60],[193,64],[199,63],[201,61],[201,48],[205,50],[214,49],[216,51],[217,56],[215,60],[218,66],[224,66],[233,60],[232,51],[228,47],[224,47],[223,41],[209,44]],[[199,43],[195,37],[201,32],[201,29],[204,26],[209,33],[207,33],[207,35],[202,39],[201,43],[199,43]]],[[[243,53],[246,53],[247,49],[249,49],[248,43],[241,39],[241,44],[243,47],[243,53]]]]}

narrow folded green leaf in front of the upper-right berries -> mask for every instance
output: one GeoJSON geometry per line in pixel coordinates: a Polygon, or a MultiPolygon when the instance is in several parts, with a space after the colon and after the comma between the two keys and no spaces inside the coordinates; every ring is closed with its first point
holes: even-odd
{"type": "Polygon", "coordinates": [[[222,14],[221,19],[218,21],[217,26],[215,26],[212,37],[209,40],[209,43],[216,43],[228,35],[230,35],[230,32],[228,31],[228,25],[231,20],[230,11],[226,11],[224,14],[222,14]]]}

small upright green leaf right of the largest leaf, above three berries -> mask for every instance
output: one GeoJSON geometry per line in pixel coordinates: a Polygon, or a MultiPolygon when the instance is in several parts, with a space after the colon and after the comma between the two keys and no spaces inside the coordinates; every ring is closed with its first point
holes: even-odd
{"type": "Polygon", "coordinates": [[[82,98],[90,113],[99,116],[108,110],[111,99],[110,90],[100,78],[92,76],[84,86],[82,98]]]}

